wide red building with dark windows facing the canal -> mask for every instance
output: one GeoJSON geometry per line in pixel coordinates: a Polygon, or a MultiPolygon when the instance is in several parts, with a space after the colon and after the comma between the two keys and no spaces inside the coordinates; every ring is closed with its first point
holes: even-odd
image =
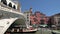
{"type": "Polygon", "coordinates": [[[36,11],[34,14],[30,15],[30,22],[31,24],[47,24],[48,17],[40,13],[40,11],[36,11]]]}

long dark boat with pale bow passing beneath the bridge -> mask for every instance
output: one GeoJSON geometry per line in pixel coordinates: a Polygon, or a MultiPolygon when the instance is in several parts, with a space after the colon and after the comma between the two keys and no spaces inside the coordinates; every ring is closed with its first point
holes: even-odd
{"type": "Polygon", "coordinates": [[[12,29],[11,29],[11,31],[10,30],[7,30],[7,32],[6,33],[11,33],[11,34],[14,34],[14,33],[35,33],[35,32],[37,32],[37,28],[26,28],[26,27],[13,27],[12,29]]]}

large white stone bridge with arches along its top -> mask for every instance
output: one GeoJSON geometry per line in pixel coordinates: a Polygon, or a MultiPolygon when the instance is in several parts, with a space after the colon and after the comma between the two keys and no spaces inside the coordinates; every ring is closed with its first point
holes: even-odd
{"type": "Polygon", "coordinates": [[[4,34],[14,22],[21,23],[21,20],[26,22],[25,15],[19,12],[17,4],[9,0],[0,0],[0,34],[4,34]]]}

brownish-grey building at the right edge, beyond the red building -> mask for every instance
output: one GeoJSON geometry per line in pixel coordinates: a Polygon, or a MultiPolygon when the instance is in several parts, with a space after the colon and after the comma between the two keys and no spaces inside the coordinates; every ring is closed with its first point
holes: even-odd
{"type": "Polygon", "coordinates": [[[60,13],[52,15],[50,19],[50,22],[54,25],[55,29],[60,29],[60,13]]]}

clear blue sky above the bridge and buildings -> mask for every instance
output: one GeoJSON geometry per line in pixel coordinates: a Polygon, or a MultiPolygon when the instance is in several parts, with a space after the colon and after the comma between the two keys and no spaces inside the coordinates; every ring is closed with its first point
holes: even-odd
{"type": "Polygon", "coordinates": [[[35,11],[40,11],[47,16],[60,13],[60,0],[19,0],[22,12],[29,10],[30,7],[35,11]]]}

